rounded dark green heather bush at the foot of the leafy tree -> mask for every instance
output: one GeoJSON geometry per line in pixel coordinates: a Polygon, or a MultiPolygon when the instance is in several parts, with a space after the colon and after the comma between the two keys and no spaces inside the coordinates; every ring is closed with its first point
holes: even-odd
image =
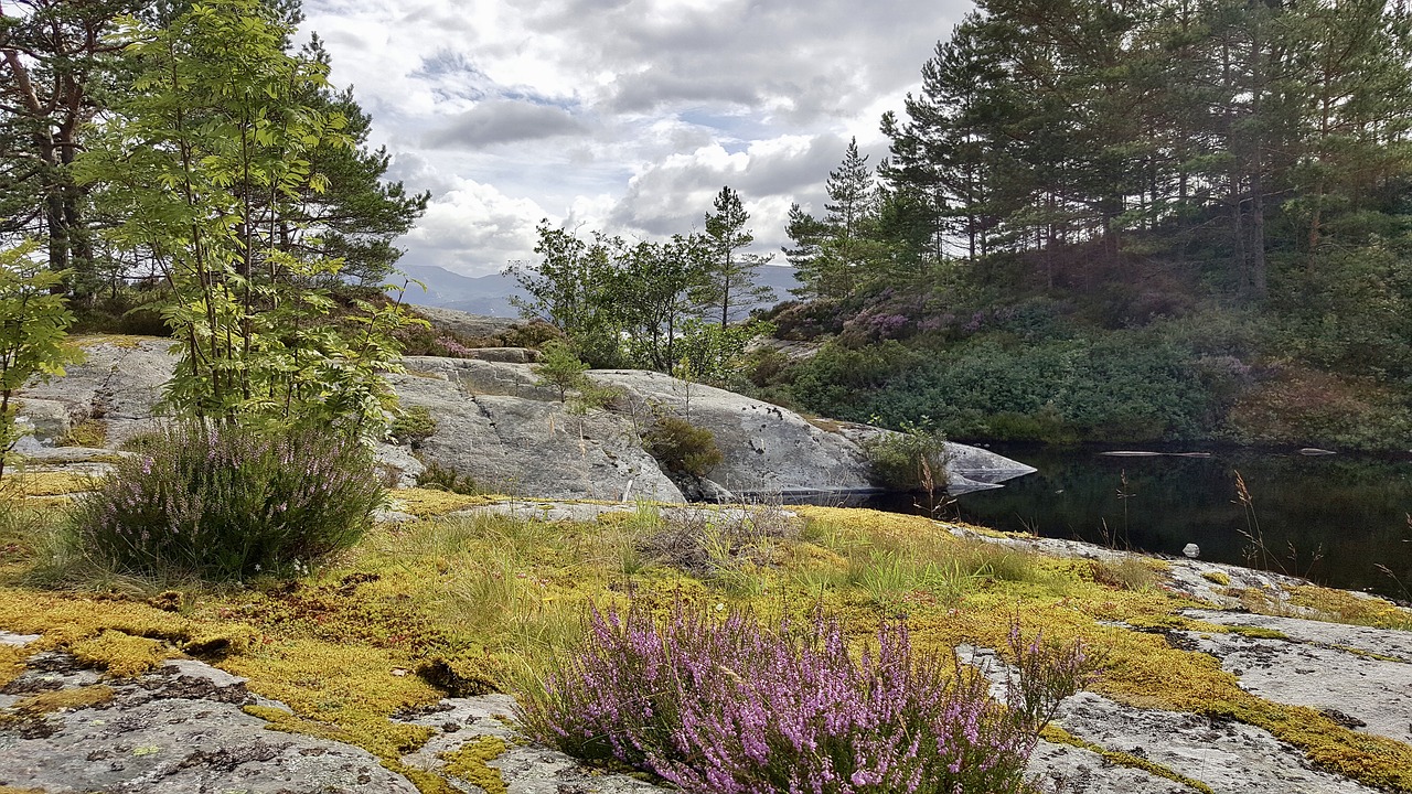
{"type": "Polygon", "coordinates": [[[383,499],[353,438],[186,424],[119,462],[73,517],[83,547],[123,569],[233,579],[347,548],[383,499]]]}

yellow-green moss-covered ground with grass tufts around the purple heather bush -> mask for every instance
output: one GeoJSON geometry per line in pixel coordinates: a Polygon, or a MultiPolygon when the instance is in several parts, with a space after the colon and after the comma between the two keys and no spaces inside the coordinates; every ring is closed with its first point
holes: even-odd
{"type": "MultiPolygon", "coordinates": [[[[47,559],[54,544],[45,540],[62,506],[11,506],[0,521],[0,629],[42,634],[41,648],[117,677],[169,657],[203,658],[294,709],[253,708],[271,729],[359,745],[422,791],[446,793],[453,788],[439,774],[400,762],[429,729],[388,718],[446,694],[534,685],[539,665],[580,636],[589,603],[635,599],[665,612],[683,599],[748,608],[765,620],[806,619],[822,605],[860,644],[881,619],[907,616],[914,640],[938,653],[959,643],[1005,647],[1018,617],[1027,634],[1082,639],[1097,651],[1103,672],[1091,688],[1108,698],[1265,728],[1324,769],[1412,791],[1412,747],[1260,699],[1210,656],[1172,647],[1163,629],[1228,629],[1180,617],[1196,603],[1165,586],[1161,565],[1104,568],[957,538],[922,517],[825,507],[796,509],[795,520],[775,510],[690,527],[686,535],[705,540],[686,554],[661,541],[664,531],[682,533],[672,535],[651,506],[545,523],[453,514],[486,497],[415,489],[395,497],[415,521],[378,527],[306,576],[222,588],[154,585],[73,562],[65,575],[47,559]]],[[[1406,619],[1333,591],[1296,598],[1330,619],[1406,619]]],[[[1260,598],[1247,603],[1258,609],[1260,598]]],[[[0,682],[21,658],[0,646],[0,682]]],[[[446,769],[481,770],[491,750],[477,745],[446,769]]]]}

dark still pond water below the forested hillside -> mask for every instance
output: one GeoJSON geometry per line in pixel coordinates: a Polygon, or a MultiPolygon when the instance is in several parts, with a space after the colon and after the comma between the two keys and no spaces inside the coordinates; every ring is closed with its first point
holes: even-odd
{"type": "MultiPolygon", "coordinates": [[[[1258,523],[1267,568],[1329,586],[1412,598],[1406,517],[1412,513],[1412,456],[1217,449],[1210,458],[1110,458],[1094,448],[991,449],[1039,470],[998,490],[960,496],[945,516],[1173,555],[1195,543],[1202,559],[1257,567],[1251,555],[1258,552],[1241,533],[1255,534],[1258,523]],[[1237,503],[1237,470],[1250,490],[1252,514],[1237,503]]],[[[916,510],[911,497],[870,506],[916,510]]]]}

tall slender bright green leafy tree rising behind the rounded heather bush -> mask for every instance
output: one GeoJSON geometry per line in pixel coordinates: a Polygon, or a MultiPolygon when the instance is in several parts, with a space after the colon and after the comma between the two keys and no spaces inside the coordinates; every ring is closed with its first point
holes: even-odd
{"type": "Polygon", "coordinates": [[[285,244],[329,184],[312,158],[350,144],[319,99],[328,65],[285,51],[291,23],[261,0],[206,0],[161,28],[123,20],[131,90],[76,171],[123,219],[112,240],[165,281],[155,308],[181,353],[168,407],[380,437],[394,403],[381,373],[408,319],[400,304],[335,311],[343,261],[285,244]]]}

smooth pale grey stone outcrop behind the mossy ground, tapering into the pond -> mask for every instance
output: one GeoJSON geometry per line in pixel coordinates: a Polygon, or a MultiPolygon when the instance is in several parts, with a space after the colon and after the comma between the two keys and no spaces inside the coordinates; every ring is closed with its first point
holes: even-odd
{"type": "MultiPolygon", "coordinates": [[[[34,421],[45,428],[37,441],[52,444],[65,420],[104,422],[109,446],[150,427],[175,366],[169,346],[165,339],[90,345],[88,360],[66,377],[28,389],[34,421]]],[[[383,451],[401,485],[414,485],[422,466],[435,465],[486,490],[551,499],[726,502],[878,490],[864,451],[868,438],[888,432],[878,428],[810,422],[778,405],[652,372],[590,373],[621,396],[611,410],[585,413],[538,386],[527,363],[433,356],[404,363],[407,373],[391,376],[393,387],[402,405],[425,407],[436,428],[418,442],[417,458],[405,446],[383,451]],[[724,459],[705,480],[674,482],[642,451],[642,431],[662,413],[714,435],[724,459]]],[[[1034,470],[974,446],[952,444],[947,455],[952,493],[995,487],[1034,470]]]]}

